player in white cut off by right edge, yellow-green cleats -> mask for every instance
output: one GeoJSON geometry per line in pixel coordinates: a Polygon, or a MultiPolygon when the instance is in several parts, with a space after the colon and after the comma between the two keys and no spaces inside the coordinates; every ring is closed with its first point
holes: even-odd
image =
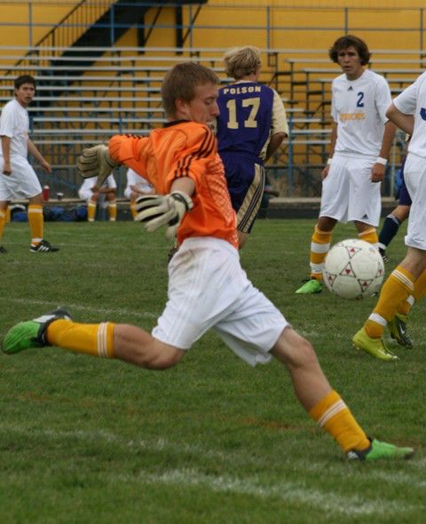
{"type": "Polygon", "coordinates": [[[413,201],[405,239],[406,258],[384,282],[373,313],[352,341],[376,358],[393,361],[397,356],[384,345],[383,330],[388,326],[398,344],[406,346],[401,337],[401,330],[406,334],[404,315],[426,292],[426,73],[393,101],[386,115],[411,135],[404,165],[406,188],[413,201]]]}

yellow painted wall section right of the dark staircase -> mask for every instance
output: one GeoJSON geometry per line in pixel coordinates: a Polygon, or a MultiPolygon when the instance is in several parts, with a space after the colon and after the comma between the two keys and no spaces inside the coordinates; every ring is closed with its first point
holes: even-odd
{"type": "Polygon", "coordinates": [[[249,39],[261,48],[324,50],[343,35],[347,23],[350,32],[364,38],[371,49],[420,48],[419,28],[426,24],[426,17],[419,8],[426,7],[424,0],[377,0],[374,7],[372,4],[370,0],[319,0],[316,3],[312,0],[244,0],[226,4],[209,0],[196,24],[215,28],[196,29],[193,45],[227,47],[247,44],[249,39]],[[251,7],[243,9],[243,5],[251,7]],[[267,6],[271,7],[269,12],[267,6]],[[269,37],[264,30],[268,17],[273,28],[269,37]],[[306,27],[313,29],[304,29],[306,27]]]}

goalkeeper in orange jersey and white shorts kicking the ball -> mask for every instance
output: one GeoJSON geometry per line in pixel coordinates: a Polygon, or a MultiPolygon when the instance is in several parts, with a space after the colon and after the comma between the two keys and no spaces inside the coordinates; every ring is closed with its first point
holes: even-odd
{"type": "Polygon", "coordinates": [[[99,175],[115,166],[144,173],[157,195],[138,199],[147,231],[166,227],[179,250],[169,265],[169,300],[151,333],[130,324],[73,322],[65,310],[20,322],[4,336],[4,353],[54,345],[78,353],[168,369],[214,329],[248,364],[275,357],[291,376],[296,397],[353,460],[411,457],[412,448],[370,440],[329,385],[312,345],[248,281],[241,268],[236,218],[210,123],[217,116],[218,78],[188,62],[162,83],[168,123],[149,137],[116,135],[108,147],[85,149],[79,170],[99,175]]]}

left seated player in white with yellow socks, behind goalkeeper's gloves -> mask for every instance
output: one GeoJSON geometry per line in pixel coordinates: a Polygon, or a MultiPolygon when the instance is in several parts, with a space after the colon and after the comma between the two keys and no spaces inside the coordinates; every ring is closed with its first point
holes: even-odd
{"type": "Polygon", "coordinates": [[[114,176],[109,175],[101,187],[96,186],[97,177],[85,179],[82,186],[78,190],[78,196],[87,201],[87,219],[89,222],[95,221],[96,208],[99,205],[101,208],[108,209],[108,217],[110,222],[115,222],[117,218],[117,184],[114,176]]]}

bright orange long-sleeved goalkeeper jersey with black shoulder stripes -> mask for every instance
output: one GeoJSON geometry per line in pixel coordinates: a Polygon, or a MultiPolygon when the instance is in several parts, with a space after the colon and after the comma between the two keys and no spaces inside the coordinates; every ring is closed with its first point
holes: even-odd
{"type": "Polygon", "coordinates": [[[109,140],[109,154],[116,162],[144,173],[159,195],[170,193],[172,183],[180,177],[193,179],[193,210],[182,220],[178,243],[191,236],[214,236],[238,247],[224,166],[207,125],[180,121],[151,131],[148,137],[115,135],[109,140]]]}

